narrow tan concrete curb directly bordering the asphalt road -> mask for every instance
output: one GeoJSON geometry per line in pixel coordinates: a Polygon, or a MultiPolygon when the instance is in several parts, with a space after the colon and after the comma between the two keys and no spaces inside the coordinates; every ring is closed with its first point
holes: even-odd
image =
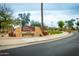
{"type": "Polygon", "coordinates": [[[35,45],[35,44],[40,44],[40,43],[46,43],[46,42],[51,42],[51,41],[57,41],[57,40],[61,40],[61,39],[64,39],[64,38],[71,37],[72,35],[73,35],[73,33],[70,33],[70,34],[68,34],[67,36],[64,36],[64,37],[54,38],[54,40],[48,39],[48,40],[35,41],[35,42],[29,42],[29,43],[20,43],[20,44],[12,44],[12,45],[0,45],[0,51],[1,50],[6,50],[6,49],[23,47],[23,46],[35,45]]]}

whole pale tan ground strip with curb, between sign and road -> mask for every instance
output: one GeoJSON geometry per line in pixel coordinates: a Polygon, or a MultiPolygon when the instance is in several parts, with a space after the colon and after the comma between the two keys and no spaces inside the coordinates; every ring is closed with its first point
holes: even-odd
{"type": "Polygon", "coordinates": [[[42,37],[25,37],[25,38],[9,37],[5,39],[3,37],[3,39],[2,38],[0,39],[0,50],[55,41],[72,35],[73,33],[63,32],[62,34],[47,35],[42,37]]]}

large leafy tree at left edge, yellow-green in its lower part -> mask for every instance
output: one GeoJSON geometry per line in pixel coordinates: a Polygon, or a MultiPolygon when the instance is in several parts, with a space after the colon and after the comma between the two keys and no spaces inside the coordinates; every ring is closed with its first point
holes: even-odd
{"type": "Polygon", "coordinates": [[[12,23],[12,10],[6,4],[0,4],[0,28],[7,30],[12,23]]]}

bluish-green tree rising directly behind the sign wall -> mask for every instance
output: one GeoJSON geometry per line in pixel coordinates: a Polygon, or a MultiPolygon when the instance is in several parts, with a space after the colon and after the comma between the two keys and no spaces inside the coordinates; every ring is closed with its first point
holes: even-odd
{"type": "Polygon", "coordinates": [[[30,13],[28,14],[19,14],[19,18],[22,19],[22,27],[29,24],[30,22],[30,13]]]}

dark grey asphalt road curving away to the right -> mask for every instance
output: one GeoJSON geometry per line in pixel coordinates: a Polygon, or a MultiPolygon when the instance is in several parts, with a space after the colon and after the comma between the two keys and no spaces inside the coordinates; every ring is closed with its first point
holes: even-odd
{"type": "Polygon", "coordinates": [[[48,43],[0,51],[7,56],[79,56],[79,33],[48,43]]]}

